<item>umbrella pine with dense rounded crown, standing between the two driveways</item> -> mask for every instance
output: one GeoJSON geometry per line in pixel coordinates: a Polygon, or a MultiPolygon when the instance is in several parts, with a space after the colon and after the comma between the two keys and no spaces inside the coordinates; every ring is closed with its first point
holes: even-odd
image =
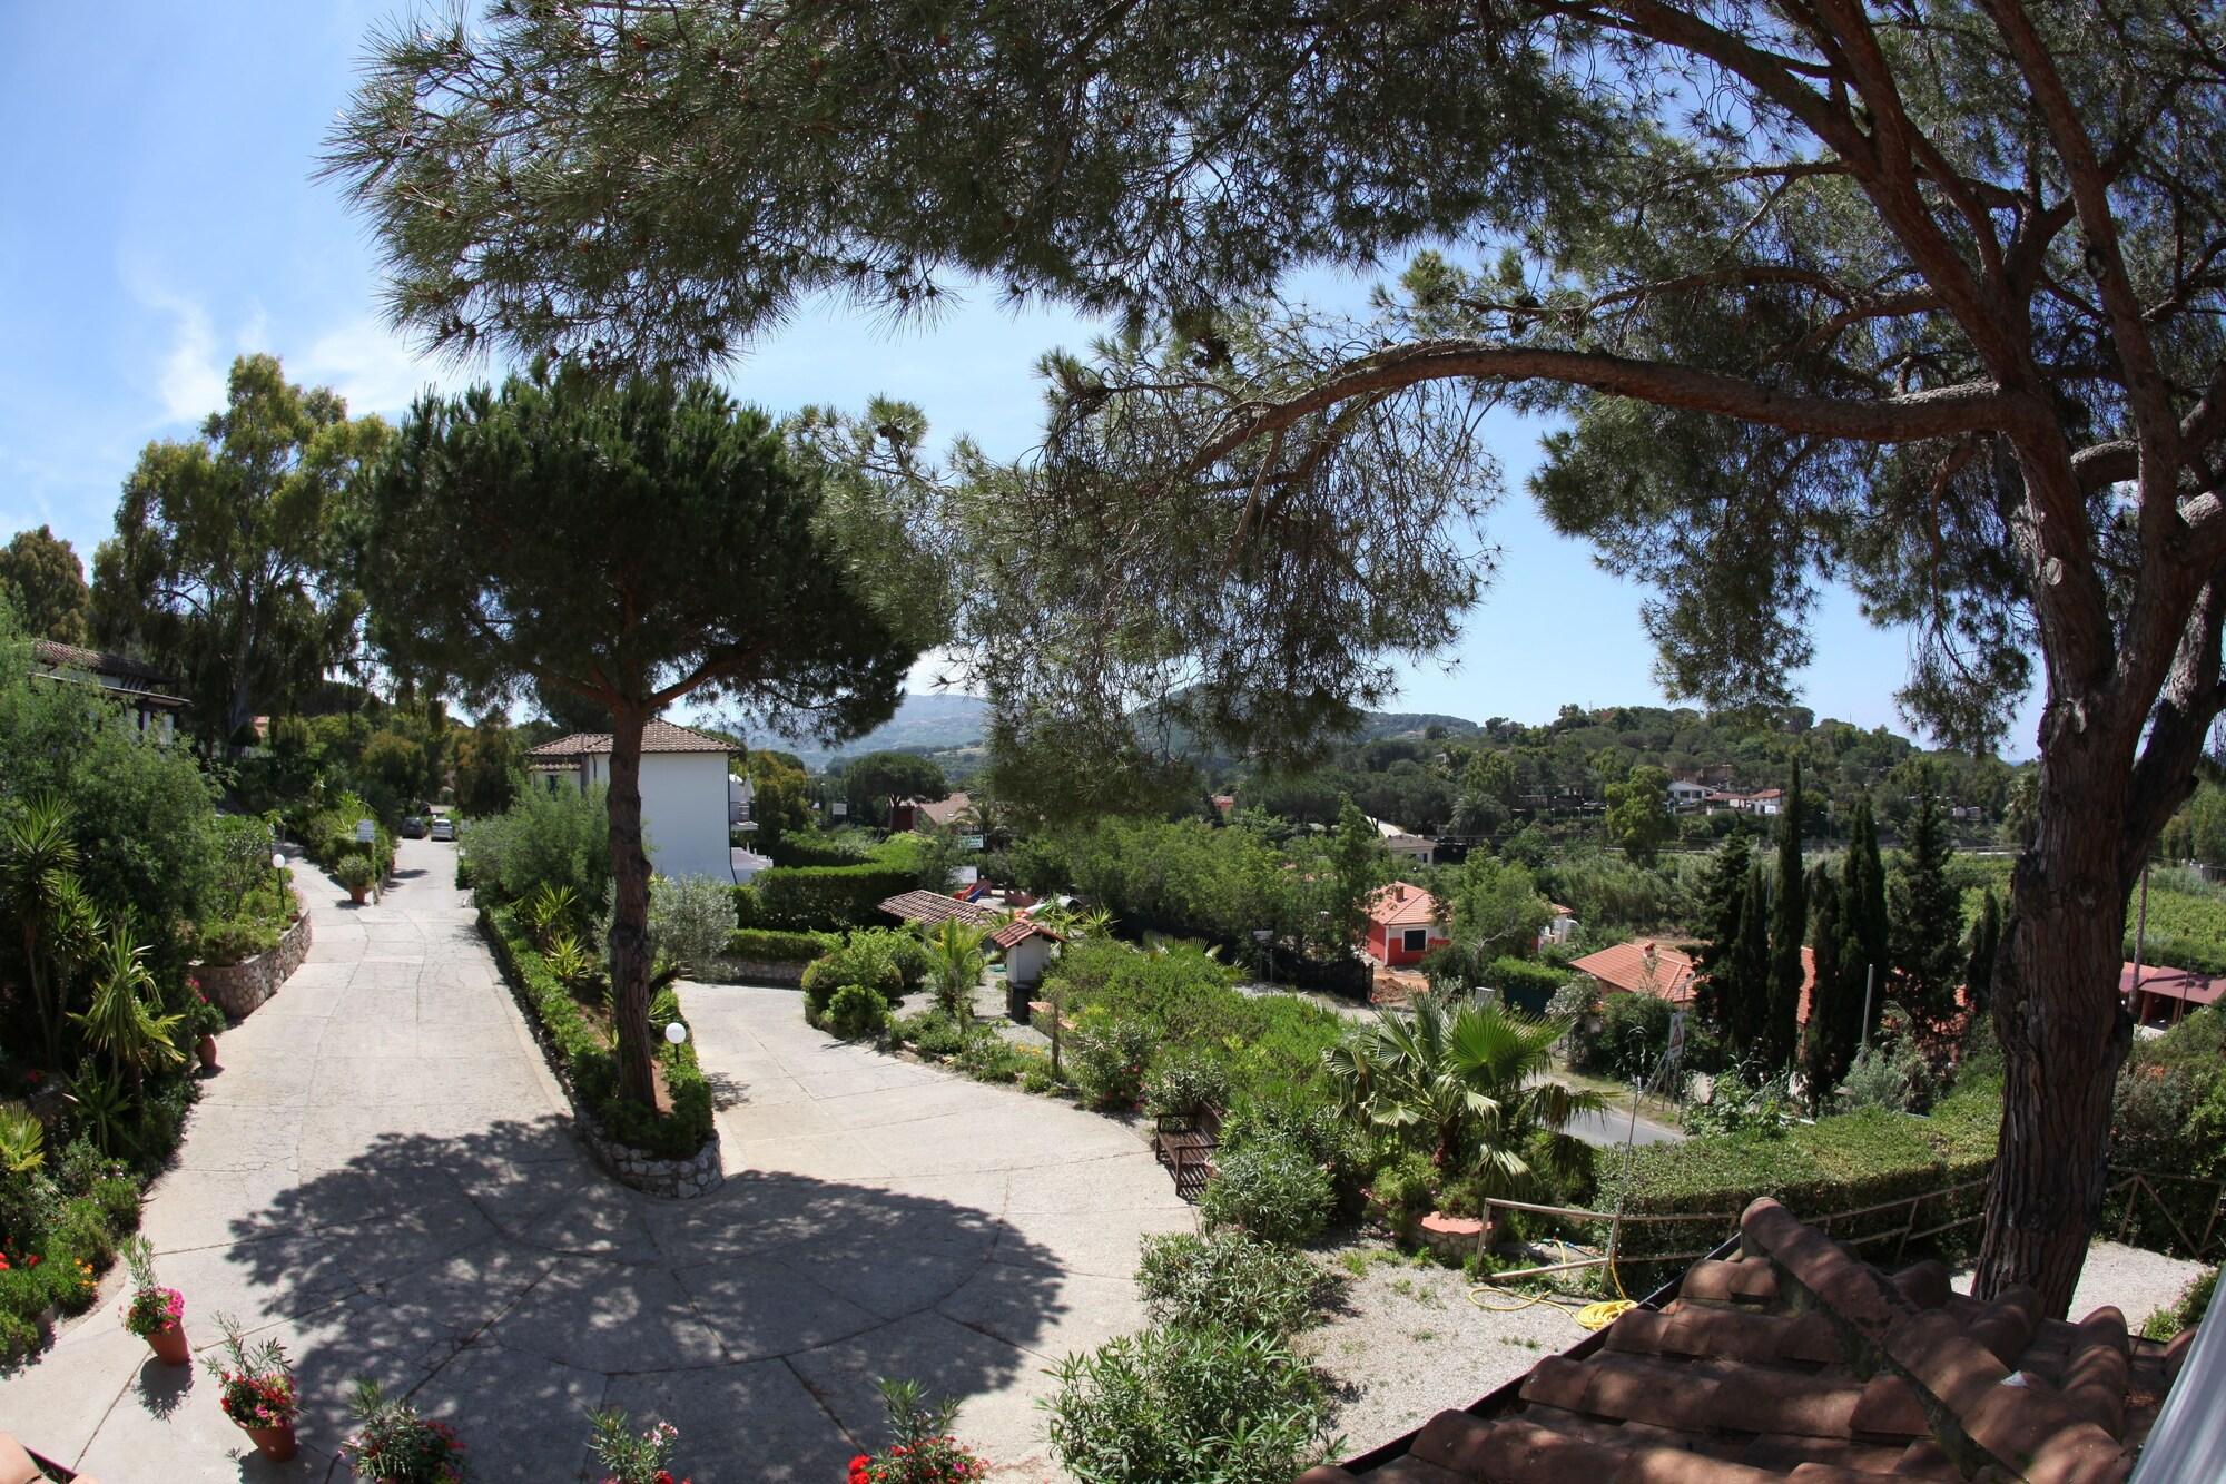
{"type": "Polygon", "coordinates": [[[821,539],[819,506],[815,468],[719,388],[579,368],[421,401],[370,481],[363,588],[405,664],[481,709],[541,682],[610,713],[619,1085],[643,1105],[643,726],[728,695],[855,733],[895,709],[919,648],[821,539]]]}

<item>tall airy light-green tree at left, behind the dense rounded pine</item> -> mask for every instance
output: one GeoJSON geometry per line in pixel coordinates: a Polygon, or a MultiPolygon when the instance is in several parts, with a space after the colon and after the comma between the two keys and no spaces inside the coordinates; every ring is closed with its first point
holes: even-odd
{"type": "Polygon", "coordinates": [[[289,383],[274,357],[234,361],[200,437],[149,443],[125,479],[116,537],[93,553],[100,642],[174,664],[216,742],[321,684],[356,651],[349,486],[387,437],[334,392],[289,383]]]}

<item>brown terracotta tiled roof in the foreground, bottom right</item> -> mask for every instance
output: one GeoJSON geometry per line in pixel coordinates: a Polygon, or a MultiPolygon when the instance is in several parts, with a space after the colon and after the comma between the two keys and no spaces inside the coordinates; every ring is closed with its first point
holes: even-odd
{"type": "Polygon", "coordinates": [[[1765,1197],[1741,1257],[1661,1308],[1300,1484],[2115,1484],[2190,1337],[2043,1319],[2030,1288],[1970,1299],[1937,1261],[1888,1277],[1765,1197]]]}

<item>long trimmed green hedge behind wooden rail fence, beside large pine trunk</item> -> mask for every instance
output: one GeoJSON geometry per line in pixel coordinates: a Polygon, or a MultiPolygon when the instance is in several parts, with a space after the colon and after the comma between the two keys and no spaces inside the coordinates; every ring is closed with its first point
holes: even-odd
{"type": "MultiPolygon", "coordinates": [[[[1977,1085],[1939,1103],[1932,1116],[1863,1110],[1781,1134],[1716,1134],[1683,1143],[1652,1143],[1632,1161],[1629,1192],[1623,1210],[1632,1214],[1692,1214],[1692,1221],[1661,1221],[1625,1228],[1623,1250],[1641,1259],[1647,1252],[1696,1252],[1732,1234],[1739,1212],[1754,1197],[1776,1197],[1803,1221],[1879,1205],[1901,1197],[1925,1194],[1948,1185],[1983,1181],[1994,1163],[1994,1139],[2001,1130],[2001,1090],[1977,1085]]],[[[1621,1172],[1603,1179],[1598,1210],[1616,1210],[1621,1172]]],[[[1963,1190],[1943,1201],[1925,1201],[1919,1228],[1941,1226],[1977,1214],[1986,1190],[1963,1190]]],[[[1850,1221],[1832,1221],[1830,1232],[1856,1241],[1879,1232],[1899,1232],[1903,1210],[1883,1210],[1850,1221]]],[[[1923,1243],[1910,1243],[1905,1259],[1921,1254],[1957,1257],[1979,1228],[1963,1226],[1923,1243]]],[[[1897,1241],[1859,1246],[1879,1263],[1892,1263],[1897,1241]]],[[[1625,1263],[1623,1286],[1641,1292],[1672,1277],[1685,1263],[1625,1263]]]]}

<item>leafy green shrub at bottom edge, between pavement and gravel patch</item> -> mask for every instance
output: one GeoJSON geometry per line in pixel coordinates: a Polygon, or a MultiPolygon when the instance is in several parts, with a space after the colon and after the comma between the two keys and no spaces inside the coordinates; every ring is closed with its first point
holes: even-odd
{"type": "Polygon", "coordinates": [[[1267,1332],[1153,1326],[1051,1375],[1051,1451],[1082,1484],[1289,1484],[1333,1446],[1322,1384],[1267,1332]]]}

